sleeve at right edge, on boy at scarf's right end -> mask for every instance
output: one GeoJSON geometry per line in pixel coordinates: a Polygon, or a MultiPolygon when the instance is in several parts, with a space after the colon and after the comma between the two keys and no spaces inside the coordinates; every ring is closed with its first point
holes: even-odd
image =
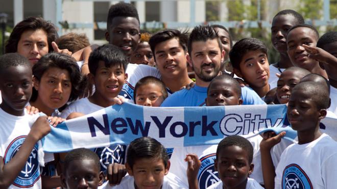
{"type": "Polygon", "coordinates": [[[333,153],[322,163],[322,180],[324,188],[337,188],[337,153],[333,153]]]}

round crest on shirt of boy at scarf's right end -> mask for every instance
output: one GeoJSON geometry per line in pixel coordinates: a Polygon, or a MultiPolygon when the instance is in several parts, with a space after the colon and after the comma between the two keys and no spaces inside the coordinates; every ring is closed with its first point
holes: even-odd
{"type": "Polygon", "coordinates": [[[283,171],[282,189],[312,189],[312,184],[299,165],[291,164],[283,171]]]}

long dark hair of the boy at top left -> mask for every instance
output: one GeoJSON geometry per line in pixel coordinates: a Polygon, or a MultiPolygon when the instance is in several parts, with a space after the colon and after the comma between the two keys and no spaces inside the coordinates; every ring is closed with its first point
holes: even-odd
{"type": "Polygon", "coordinates": [[[22,33],[29,30],[43,30],[47,34],[49,52],[53,50],[52,42],[56,41],[58,37],[53,23],[50,21],[45,21],[41,17],[28,17],[14,26],[13,31],[7,40],[5,53],[16,52],[17,44],[21,38],[22,33]]]}

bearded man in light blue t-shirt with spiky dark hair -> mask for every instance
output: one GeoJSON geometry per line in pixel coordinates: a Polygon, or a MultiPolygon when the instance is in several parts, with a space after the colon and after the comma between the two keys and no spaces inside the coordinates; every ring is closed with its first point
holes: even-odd
{"type": "MultiPolygon", "coordinates": [[[[196,85],[165,99],[161,106],[202,106],[210,81],[219,75],[224,52],[218,34],[209,25],[196,26],[188,39],[187,61],[196,74],[196,85]]],[[[251,89],[242,88],[244,104],[265,104],[251,89]]]]}

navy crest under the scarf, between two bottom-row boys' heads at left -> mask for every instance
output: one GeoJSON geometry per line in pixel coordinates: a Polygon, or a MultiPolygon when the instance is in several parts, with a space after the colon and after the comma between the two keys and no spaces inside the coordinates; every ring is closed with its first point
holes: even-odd
{"type": "Polygon", "coordinates": [[[95,153],[100,157],[102,171],[105,171],[112,163],[124,164],[125,149],[125,145],[119,144],[95,149],[95,153]]]}

